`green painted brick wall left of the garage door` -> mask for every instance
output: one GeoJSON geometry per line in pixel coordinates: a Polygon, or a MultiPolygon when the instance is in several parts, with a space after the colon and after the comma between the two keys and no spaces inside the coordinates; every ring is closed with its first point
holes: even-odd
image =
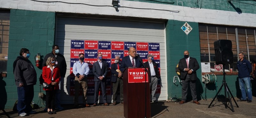
{"type": "MultiPolygon", "coordinates": [[[[6,83],[5,89],[7,92],[7,103],[5,108],[13,107],[13,104],[18,100],[17,86],[12,72],[12,64],[19,56],[21,48],[28,48],[30,51],[29,60],[35,63],[35,55],[41,53],[45,55],[52,50],[55,33],[55,13],[41,12],[41,11],[27,11],[11,9],[10,15],[10,35],[8,48],[8,62],[7,62],[7,77],[3,80],[6,83]]],[[[42,70],[37,68],[37,83],[34,86],[34,102],[39,100],[38,93],[39,77],[42,70]]],[[[42,89],[41,89],[42,90],[42,89]]]]}

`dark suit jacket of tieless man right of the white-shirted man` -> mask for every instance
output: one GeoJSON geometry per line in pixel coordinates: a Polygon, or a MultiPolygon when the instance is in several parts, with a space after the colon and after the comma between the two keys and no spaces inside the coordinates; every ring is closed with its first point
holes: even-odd
{"type": "Polygon", "coordinates": [[[108,73],[107,63],[102,62],[102,68],[100,69],[99,62],[94,62],[92,65],[92,73],[94,75],[94,81],[100,81],[100,76],[104,76],[104,78],[102,79],[102,81],[104,81],[108,73]]]}

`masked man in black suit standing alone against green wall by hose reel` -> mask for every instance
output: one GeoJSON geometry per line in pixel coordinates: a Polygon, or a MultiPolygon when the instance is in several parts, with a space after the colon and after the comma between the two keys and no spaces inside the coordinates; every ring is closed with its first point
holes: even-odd
{"type": "Polygon", "coordinates": [[[188,94],[188,84],[190,85],[190,90],[193,98],[193,103],[200,104],[196,98],[196,70],[199,69],[199,64],[196,61],[196,58],[189,56],[188,51],[184,51],[184,57],[180,59],[179,70],[180,70],[180,79],[182,80],[182,97],[180,104],[186,102],[188,94]]]}

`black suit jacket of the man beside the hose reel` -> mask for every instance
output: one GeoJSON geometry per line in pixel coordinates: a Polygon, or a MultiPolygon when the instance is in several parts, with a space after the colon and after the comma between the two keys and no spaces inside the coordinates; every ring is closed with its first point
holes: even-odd
{"type": "Polygon", "coordinates": [[[186,79],[187,76],[189,76],[191,80],[197,79],[196,70],[199,69],[199,64],[198,64],[196,58],[189,57],[188,67],[187,67],[186,59],[185,58],[180,59],[178,68],[180,70],[180,79],[184,80],[184,79],[186,79]],[[193,72],[191,74],[188,74],[188,72],[184,71],[185,68],[192,69],[193,72]]]}

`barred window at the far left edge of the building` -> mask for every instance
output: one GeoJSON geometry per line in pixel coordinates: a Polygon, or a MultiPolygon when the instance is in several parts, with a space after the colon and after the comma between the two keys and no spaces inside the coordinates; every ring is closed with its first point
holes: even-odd
{"type": "Polygon", "coordinates": [[[0,11],[0,73],[7,70],[10,10],[0,11]]]}

